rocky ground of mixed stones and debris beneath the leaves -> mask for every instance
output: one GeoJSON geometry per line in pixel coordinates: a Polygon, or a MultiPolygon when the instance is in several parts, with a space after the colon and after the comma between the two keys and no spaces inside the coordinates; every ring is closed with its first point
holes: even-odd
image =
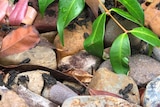
{"type": "MultiPolygon", "coordinates": [[[[108,1],[108,8],[114,6],[114,0],[108,1]]],[[[130,36],[129,74],[116,74],[109,61],[109,48],[122,30],[113,20],[107,19],[107,60],[102,60],[83,47],[92,32],[91,10],[86,6],[64,30],[65,46],[56,31],[57,11],[54,2],[43,19],[37,16],[33,25],[41,40],[34,48],[0,58],[0,107],[159,107],[159,47],[148,56],[148,45],[130,36]]],[[[115,17],[127,29],[137,26],[115,17]]]]}

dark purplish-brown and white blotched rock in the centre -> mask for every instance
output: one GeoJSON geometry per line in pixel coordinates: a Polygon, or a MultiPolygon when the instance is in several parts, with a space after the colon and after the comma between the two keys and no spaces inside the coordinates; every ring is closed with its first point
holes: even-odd
{"type": "Polygon", "coordinates": [[[90,55],[86,51],[82,50],[75,55],[62,58],[58,63],[58,69],[61,71],[68,69],[80,69],[91,74],[92,70],[97,69],[100,62],[100,58],[90,55]]]}

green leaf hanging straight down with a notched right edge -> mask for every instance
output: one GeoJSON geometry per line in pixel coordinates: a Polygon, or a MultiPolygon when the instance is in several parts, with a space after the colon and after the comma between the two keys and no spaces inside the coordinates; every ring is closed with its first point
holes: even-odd
{"type": "Polygon", "coordinates": [[[110,49],[110,61],[114,72],[118,74],[128,74],[131,54],[130,42],[126,33],[120,34],[113,42],[110,49]]]}

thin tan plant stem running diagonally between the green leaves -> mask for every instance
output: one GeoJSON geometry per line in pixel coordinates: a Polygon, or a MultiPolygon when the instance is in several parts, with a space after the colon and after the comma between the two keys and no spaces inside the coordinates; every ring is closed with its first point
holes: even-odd
{"type": "Polygon", "coordinates": [[[98,0],[102,8],[105,10],[106,14],[108,14],[112,20],[125,32],[128,33],[128,30],[126,30],[110,13],[110,11],[104,6],[104,4],[101,2],[101,0],[98,0]]]}

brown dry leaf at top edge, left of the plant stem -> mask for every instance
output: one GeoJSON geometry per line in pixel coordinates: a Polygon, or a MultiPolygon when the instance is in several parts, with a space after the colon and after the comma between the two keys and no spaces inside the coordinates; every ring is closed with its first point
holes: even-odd
{"type": "Polygon", "coordinates": [[[85,2],[91,8],[94,16],[97,17],[98,16],[98,6],[99,6],[98,0],[85,0],[85,2]]]}

